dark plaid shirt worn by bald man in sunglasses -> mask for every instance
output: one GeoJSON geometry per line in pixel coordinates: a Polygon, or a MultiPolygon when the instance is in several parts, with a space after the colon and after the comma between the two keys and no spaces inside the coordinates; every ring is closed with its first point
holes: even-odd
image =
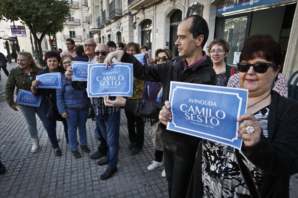
{"type": "MultiPolygon", "coordinates": [[[[70,85],[77,90],[87,88],[87,81],[71,81],[70,85]]],[[[116,96],[110,96],[110,100],[115,100],[116,96]]],[[[106,112],[108,115],[115,114],[120,111],[120,107],[107,107],[103,101],[103,97],[92,97],[91,103],[96,115],[104,116],[106,112]]]]}

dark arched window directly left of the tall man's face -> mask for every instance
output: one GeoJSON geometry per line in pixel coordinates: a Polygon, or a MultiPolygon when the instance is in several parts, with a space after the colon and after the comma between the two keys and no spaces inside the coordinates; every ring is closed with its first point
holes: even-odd
{"type": "Polygon", "coordinates": [[[178,25],[182,20],[182,11],[176,10],[170,18],[170,50],[173,56],[178,56],[178,48],[175,45],[177,40],[178,25]]]}

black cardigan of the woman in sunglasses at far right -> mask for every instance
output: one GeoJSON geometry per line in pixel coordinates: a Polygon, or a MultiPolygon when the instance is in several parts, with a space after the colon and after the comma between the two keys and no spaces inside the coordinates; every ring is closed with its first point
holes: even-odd
{"type": "MultiPolygon", "coordinates": [[[[253,146],[241,151],[266,173],[258,191],[261,197],[289,197],[290,175],[298,172],[298,102],[271,91],[268,138],[261,136],[253,146]]],[[[202,146],[199,146],[187,197],[202,197],[202,146]]]]}

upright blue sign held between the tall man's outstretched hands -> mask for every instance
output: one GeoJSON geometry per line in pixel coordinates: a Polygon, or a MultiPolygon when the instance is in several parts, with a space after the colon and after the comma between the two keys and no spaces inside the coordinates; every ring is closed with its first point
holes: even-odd
{"type": "Polygon", "coordinates": [[[115,63],[105,69],[105,64],[88,65],[88,97],[132,96],[133,68],[130,63],[115,63]]]}

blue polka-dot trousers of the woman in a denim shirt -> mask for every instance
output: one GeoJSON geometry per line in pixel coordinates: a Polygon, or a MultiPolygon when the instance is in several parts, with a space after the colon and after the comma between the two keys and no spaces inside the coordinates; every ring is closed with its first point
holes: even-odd
{"type": "Polygon", "coordinates": [[[71,151],[77,150],[77,129],[79,130],[80,143],[85,146],[87,144],[86,122],[88,118],[89,108],[86,109],[66,109],[69,147],[71,151]]]}

